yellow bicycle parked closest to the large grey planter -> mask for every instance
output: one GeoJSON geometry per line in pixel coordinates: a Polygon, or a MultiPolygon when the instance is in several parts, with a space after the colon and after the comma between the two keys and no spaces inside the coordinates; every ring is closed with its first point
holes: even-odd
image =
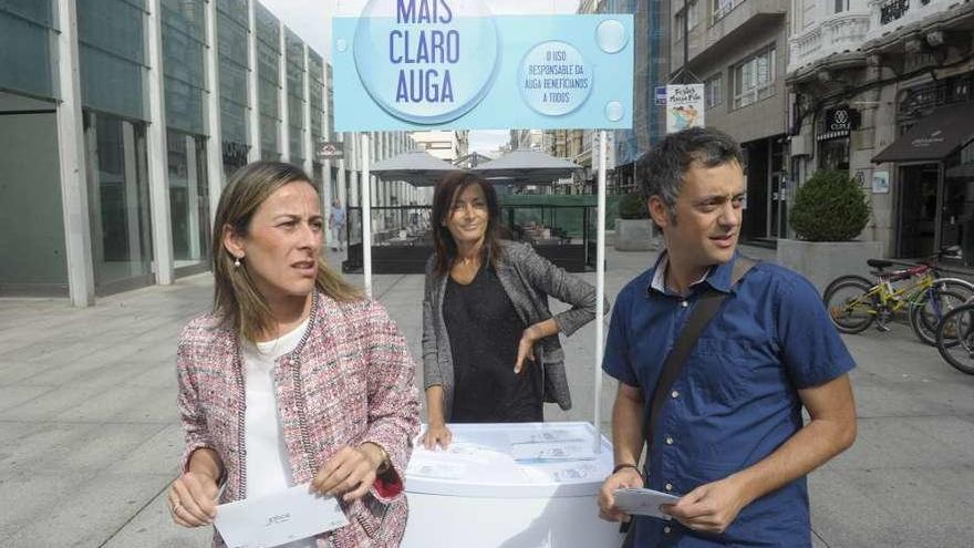
{"type": "Polygon", "coordinates": [[[841,276],[832,280],[822,296],[829,317],[843,333],[861,333],[873,322],[880,331],[889,331],[888,323],[898,312],[909,309],[910,327],[926,344],[936,343],[936,327],[946,312],[964,303],[974,294],[974,285],[960,278],[942,278],[937,262],[946,256],[956,256],[957,246],[942,249],[915,267],[887,272],[893,263],[869,259],[877,281],[861,276],[841,276]],[[902,287],[894,282],[911,280],[902,287]]]}

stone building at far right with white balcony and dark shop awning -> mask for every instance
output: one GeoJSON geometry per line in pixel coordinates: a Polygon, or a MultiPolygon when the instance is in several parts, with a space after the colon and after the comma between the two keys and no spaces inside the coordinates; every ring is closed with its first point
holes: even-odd
{"type": "Polygon", "coordinates": [[[842,169],[887,256],[961,246],[974,266],[974,4],[792,0],[788,84],[799,180],[842,169]]]}

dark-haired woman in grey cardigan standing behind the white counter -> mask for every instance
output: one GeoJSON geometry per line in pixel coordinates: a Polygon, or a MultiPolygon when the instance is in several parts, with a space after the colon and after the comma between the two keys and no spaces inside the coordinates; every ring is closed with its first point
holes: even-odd
{"type": "MultiPolygon", "coordinates": [[[[500,239],[494,187],[457,172],[433,198],[426,263],[422,443],[446,447],[446,423],[542,421],[543,402],[571,407],[558,333],[595,317],[595,289],[525,244],[500,239]],[[552,316],[548,296],[571,304],[552,316]]],[[[608,304],[605,307],[608,311],[608,304]]]]}

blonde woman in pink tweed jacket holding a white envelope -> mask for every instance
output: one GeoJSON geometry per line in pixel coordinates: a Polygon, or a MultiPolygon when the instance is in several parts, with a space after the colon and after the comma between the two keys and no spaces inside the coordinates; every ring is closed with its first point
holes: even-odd
{"type": "Polygon", "coordinates": [[[214,312],[179,338],[186,448],[169,510],[199,527],[218,503],[310,484],[338,498],[349,525],[288,547],[395,547],[418,432],[414,365],[385,309],[324,265],[309,180],[258,162],[220,197],[214,312]]]}

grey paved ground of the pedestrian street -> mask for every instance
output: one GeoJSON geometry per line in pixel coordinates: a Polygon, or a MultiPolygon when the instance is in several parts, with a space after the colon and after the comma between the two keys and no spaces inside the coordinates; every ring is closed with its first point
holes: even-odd
{"type": "MultiPolygon", "coordinates": [[[[610,301],[651,260],[610,250],[610,301]]],[[[584,277],[594,283],[594,273],[584,277]]],[[[374,285],[418,356],[422,276],[376,276],[374,285]]],[[[210,299],[209,275],[199,275],[83,310],[0,300],[0,546],[208,546],[209,530],[170,523],[163,494],[182,448],[176,338],[210,299]]],[[[576,406],[549,406],[549,421],[592,420],[593,338],[590,324],[566,340],[576,406]]],[[[971,546],[974,376],[906,327],[846,341],[859,362],[859,440],[809,480],[816,546],[971,546]]],[[[614,390],[607,378],[603,427],[614,390]]]]}

